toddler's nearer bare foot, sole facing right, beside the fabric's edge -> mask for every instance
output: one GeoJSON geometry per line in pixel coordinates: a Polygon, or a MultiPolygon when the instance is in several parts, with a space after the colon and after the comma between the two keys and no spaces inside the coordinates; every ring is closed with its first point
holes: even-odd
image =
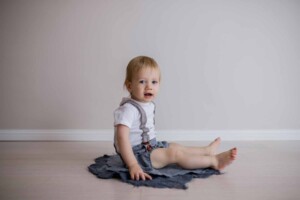
{"type": "Polygon", "coordinates": [[[230,149],[223,153],[220,153],[215,156],[216,160],[213,164],[213,168],[217,170],[222,170],[226,166],[230,165],[237,156],[237,148],[230,149]]]}

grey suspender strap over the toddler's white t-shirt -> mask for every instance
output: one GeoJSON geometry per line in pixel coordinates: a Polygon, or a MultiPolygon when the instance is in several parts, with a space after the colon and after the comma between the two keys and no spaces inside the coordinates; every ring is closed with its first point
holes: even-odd
{"type": "Polygon", "coordinates": [[[141,114],[140,129],[143,131],[143,133],[142,133],[142,143],[143,144],[148,143],[150,138],[149,138],[149,135],[148,135],[149,128],[146,127],[147,115],[146,115],[145,110],[142,108],[142,106],[140,106],[137,102],[133,101],[132,99],[129,99],[129,98],[123,99],[120,106],[124,105],[125,103],[130,103],[131,105],[136,107],[138,109],[139,113],[141,114]]]}

